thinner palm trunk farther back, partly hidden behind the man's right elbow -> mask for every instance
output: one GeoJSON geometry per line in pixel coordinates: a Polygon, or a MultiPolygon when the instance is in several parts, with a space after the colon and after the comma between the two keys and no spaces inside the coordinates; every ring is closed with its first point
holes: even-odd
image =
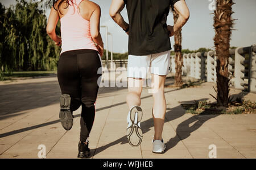
{"type": "MultiPolygon", "coordinates": [[[[176,11],[173,11],[174,14],[174,23],[176,23],[177,19],[179,18],[179,14],[176,11]]],[[[175,51],[175,86],[181,86],[183,84],[181,74],[182,74],[182,66],[183,66],[183,57],[181,53],[181,29],[177,34],[174,35],[174,51],[175,51]]]]}

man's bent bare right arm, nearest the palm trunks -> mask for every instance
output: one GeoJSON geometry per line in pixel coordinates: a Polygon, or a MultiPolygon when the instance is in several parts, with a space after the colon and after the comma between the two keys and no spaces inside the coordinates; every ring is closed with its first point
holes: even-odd
{"type": "Polygon", "coordinates": [[[177,19],[177,22],[174,24],[174,26],[167,26],[168,30],[171,32],[170,36],[176,34],[176,32],[179,31],[185,23],[187,23],[189,18],[188,6],[184,0],[177,1],[174,4],[174,10],[179,14],[179,18],[177,19]]]}

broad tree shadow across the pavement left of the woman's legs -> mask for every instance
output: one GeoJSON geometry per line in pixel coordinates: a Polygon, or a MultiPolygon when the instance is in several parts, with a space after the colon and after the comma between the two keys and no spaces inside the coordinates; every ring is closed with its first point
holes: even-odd
{"type": "Polygon", "coordinates": [[[57,81],[0,85],[0,120],[52,105],[59,96],[57,81]]]}

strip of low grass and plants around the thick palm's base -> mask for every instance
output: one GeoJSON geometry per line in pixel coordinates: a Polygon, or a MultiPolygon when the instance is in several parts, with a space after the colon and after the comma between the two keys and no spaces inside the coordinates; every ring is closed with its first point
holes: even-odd
{"type": "Polygon", "coordinates": [[[238,97],[229,103],[226,108],[220,108],[216,103],[207,101],[195,101],[192,104],[181,104],[186,113],[191,114],[251,114],[256,113],[256,103],[244,101],[238,97]]]}

